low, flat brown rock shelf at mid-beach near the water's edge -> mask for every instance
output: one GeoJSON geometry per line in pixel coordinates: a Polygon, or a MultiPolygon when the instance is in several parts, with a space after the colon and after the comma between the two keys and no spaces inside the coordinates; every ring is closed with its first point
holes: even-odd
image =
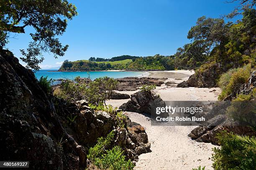
{"type": "Polygon", "coordinates": [[[164,84],[163,80],[167,80],[167,78],[152,78],[152,77],[125,77],[118,78],[119,84],[117,87],[118,91],[135,91],[138,90],[139,87],[143,85],[156,85],[161,86],[164,84]]]}

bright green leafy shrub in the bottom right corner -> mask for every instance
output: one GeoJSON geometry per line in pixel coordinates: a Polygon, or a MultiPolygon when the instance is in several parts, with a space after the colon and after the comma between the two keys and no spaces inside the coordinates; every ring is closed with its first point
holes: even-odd
{"type": "Polygon", "coordinates": [[[220,148],[213,148],[215,170],[255,170],[256,147],[226,132],[217,135],[220,148]]]}

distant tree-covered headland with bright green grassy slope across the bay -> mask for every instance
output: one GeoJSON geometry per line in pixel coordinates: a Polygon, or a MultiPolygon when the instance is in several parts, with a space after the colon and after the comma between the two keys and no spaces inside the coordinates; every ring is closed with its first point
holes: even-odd
{"type": "Polygon", "coordinates": [[[135,57],[123,55],[111,59],[90,58],[90,60],[65,60],[60,71],[97,71],[97,70],[174,70],[179,62],[174,56],[154,55],[148,57],[135,57]],[[99,60],[103,61],[99,61],[99,60]],[[120,60],[125,59],[125,60],[120,60]]]}

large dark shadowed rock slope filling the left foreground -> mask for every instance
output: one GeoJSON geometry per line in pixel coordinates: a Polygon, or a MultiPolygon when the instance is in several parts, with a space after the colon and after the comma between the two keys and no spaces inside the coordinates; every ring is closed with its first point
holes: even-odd
{"type": "Polygon", "coordinates": [[[85,168],[87,149],[77,148],[51,96],[8,50],[0,50],[0,87],[0,160],[29,160],[31,169],[85,168]],[[57,144],[61,138],[65,146],[57,144]]]}

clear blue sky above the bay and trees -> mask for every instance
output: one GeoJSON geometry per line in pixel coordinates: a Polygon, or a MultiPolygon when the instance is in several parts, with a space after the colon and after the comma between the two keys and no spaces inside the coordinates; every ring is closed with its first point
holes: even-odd
{"type": "MultiPolygon", "coordinates": [[[[190,42],[187,32],[197,18],[218,18],[237,5],[226,0],[69,0],[77,6],[78,16],[68,22],[59,37],[69,49],[54,59],[44,54],[41,68],[57,67],[64,60],[119,55],[173,55],[178,47],[190,42]]],[[[26,34],[10,39],[7,47],[21,57],[31,41],[26,34]]]]}

